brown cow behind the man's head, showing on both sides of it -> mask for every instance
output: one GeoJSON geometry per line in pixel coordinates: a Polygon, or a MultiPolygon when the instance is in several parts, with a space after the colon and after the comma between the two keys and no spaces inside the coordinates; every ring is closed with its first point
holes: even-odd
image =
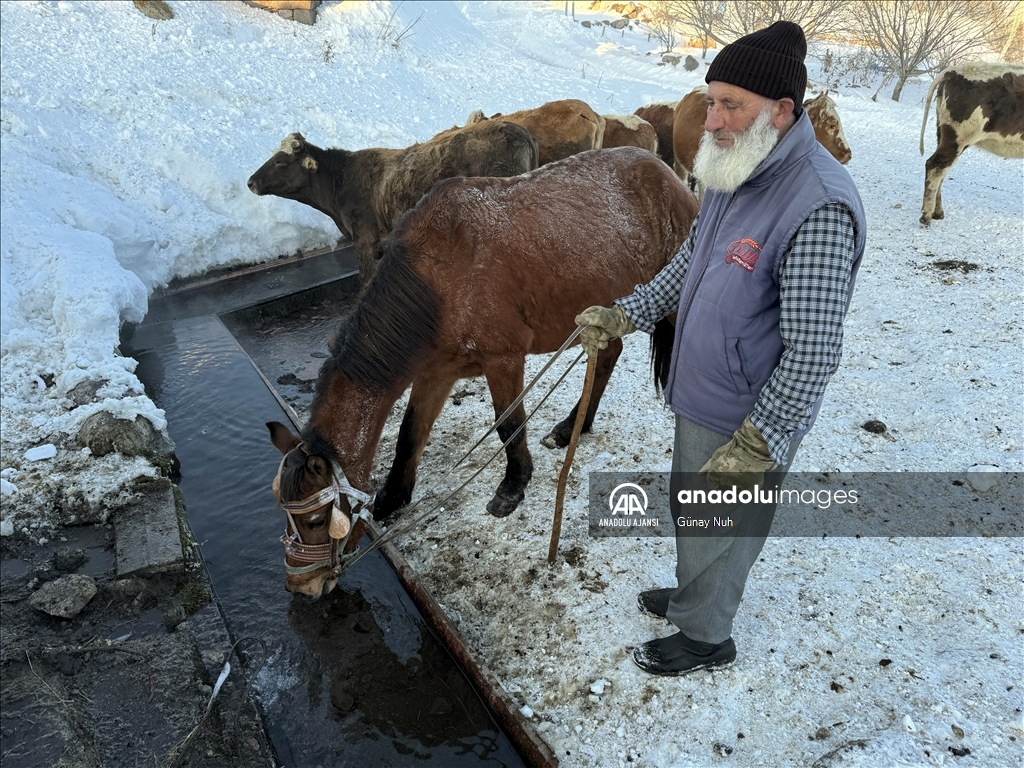
{"type": "MultiPolygon", "coordinates": [[[[676,105],[672,127],[673,168],[682,179],[688,179],[693,173],[693,159],[700,146],[705,122],[708,120],[707,99],[708,86],[700,85],[683,96],[676,105]]],[[[850,152],[836,102],[829,98],[828,91],[806,99],[803,105],[814,127],[814,137],[818,143],[843,165],[849,163],[853,153],[850,152]]]]}

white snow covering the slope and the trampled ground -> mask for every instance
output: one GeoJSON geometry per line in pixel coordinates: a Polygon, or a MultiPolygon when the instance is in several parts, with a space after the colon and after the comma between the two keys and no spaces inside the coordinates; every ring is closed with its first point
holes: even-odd
{"type": "MultiPolygon", "coordinates": [[[[578,20],[613,17],[584,5],[578,20]]],[[[246,188],[287,134],[400,147],[477,109],[575,97],[630,114],[702,83],[700,70],[659,66],[645,34],[585,29],[562,3],[327,2],[314,27],[233,2],[171,6],[176,18],[154,24],[127,2],[0,4],[2,536],[42,540],[58,494],[81,497],[82,514],[155,471],[75,439],[99,410],[166,426],[116,351],[154,289],[337,241],[323,214],[246,188]],[[72,408],[83,382],[96,397],[72,408]],[[45,444],[40,471],[26,452],[45,444]]],[[[974,467],[981,482],[1024,464],[1021,164],[968,151],[944,186],[946,219],[921,227],[928,85],[911,81],[900,103],[872,101],[877,84],[833,94],[869,231],[843,366],[796,471],[974,467]],[[871,419],[887,431],[859,428],[871,419]]],[[[1019,765],[1019,540],[772,539],[736,618],[736,665],[679,679],[633,665],[632,646],[670,632],[635,600],[673,585],[674,544],[590,539],[584,505],[591,471],[668,467],[672,421],[641,337],[626,340],[581,441],[554,568],[562,454],[538,438],[574,401],[582,367],[530,425],[536,471],[516,514],[483,513],[503,471],[488,468],[424,537],[399,542],[561,764],[942,765],[955,748],[1019,765]]],[[[438,420],[423,487],[493,416],[482,380],[460,387],[473,394],[438,420]]]]}

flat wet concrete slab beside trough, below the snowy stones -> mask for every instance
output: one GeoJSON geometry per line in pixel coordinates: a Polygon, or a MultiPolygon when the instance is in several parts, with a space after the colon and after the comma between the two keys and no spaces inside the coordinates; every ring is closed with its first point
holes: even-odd
{"type": "Polygon", "coordinates": [[[114,538],[119,577],[183,570],[171,481],[161,477],[141,487],[138,499],[115,515],[114,538]]]}

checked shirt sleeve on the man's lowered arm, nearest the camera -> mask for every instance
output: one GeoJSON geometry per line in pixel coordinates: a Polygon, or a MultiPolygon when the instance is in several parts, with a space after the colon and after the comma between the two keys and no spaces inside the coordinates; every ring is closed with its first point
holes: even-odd
{"type": "Polygon", "coordinates": [[[852,213],[829,203],[808,217],[782,256],[782,358],[750,417],[778,464],[839,368],[855,250],[852,213]]]}

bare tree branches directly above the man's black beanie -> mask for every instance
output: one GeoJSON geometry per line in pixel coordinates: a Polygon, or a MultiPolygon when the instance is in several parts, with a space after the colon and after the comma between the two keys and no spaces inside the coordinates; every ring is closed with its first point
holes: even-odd
{"type": "MultiPolygon", "coordinates": [[[[775,22],[795,22],[808,42],[835,35],[849,26],[847,0],[742,0],[730,2],[718,34],[727,40],[750,35],[775,22]]],[[[714,36],[713,36],[714,37],[714,36]]],[[[718,38],[714,38],[718,40],[718,38]]],[[[722,42],[719,40],[719,42],[722,42]]]]}

